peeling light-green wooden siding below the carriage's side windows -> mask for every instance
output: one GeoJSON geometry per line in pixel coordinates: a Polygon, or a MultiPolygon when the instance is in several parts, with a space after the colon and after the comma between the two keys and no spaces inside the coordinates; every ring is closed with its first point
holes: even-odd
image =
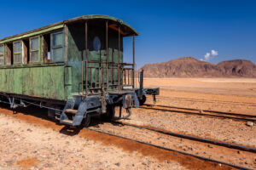
{"type": "Polygon", "coordinates": [[[64,65],[0,68],[0,92],[66,99],[64,65]]]}

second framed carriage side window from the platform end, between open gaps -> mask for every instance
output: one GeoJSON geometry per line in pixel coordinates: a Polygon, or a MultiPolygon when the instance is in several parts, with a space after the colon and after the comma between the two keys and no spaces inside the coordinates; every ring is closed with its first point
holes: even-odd
{"type": "Polygon", "coordinates": [[[30,39],[30,62],[35,63],[39,61],[39,52],[40,52],[40,38],[32,37],[30,39]]]}

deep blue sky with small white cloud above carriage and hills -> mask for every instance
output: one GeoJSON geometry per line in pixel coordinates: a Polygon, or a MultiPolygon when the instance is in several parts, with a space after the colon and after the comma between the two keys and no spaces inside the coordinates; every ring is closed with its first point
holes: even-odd
{"type": "MultiPolygon", "coordinates": [[[[86,14],[124,20],[140,33],[138,68],[184,56],[256,63],[256,1],[1,1],[0,8],[0,38],[86,14]]],[[[131,39],[125,38],[127,61],[130,52],[131,39]]]]}

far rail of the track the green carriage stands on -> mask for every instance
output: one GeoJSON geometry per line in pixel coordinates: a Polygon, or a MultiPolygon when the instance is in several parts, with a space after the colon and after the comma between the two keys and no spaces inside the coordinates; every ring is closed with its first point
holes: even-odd
{"type": "Polygon", "coordinates": [[[125,122],[116,122],[116,123],[126,125],[126,126],[130,126],[130,127],[143,128],[143,129],[147,129],[147,130],[154,131],[154,132],[157,132],[157,133],[163,133],[163,134],[167,134],[167,135],[170,135],[170,136],[175,136],[175,137],[179,137],[179,138],[183,138],[183,139],[189,139],[189,140],[194,140],[194,141],[203,142],[203,143],[207,143],[207,144],[215,144],[215,145],[224,146],[224,147],[231,148],[231,149],[243,150],[243,151],[256,153],[256,148],[251,148],[251,147],[247,147],[247,146],[243,146],[243,145],[229,144],[229,143],[226,143],[226,142],[220,142],[220,141],[212,140],[212,139],[203,139],[203,138],[200,138],[200,137],[189,136],[189,135],[186,135],[186,134],[172,133],[172,132],[169,132],[169,131],[166,131],[166,130],[160,130],[160,129],[157,129],[157,128],[154,128],[154,127],[138,126],[138,125],[125,123],[125,122]]]}

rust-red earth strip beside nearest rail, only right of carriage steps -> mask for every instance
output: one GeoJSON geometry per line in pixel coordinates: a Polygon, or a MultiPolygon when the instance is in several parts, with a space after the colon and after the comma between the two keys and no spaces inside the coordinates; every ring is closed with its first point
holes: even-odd
{"type": "Polygon", "coordinates": [[[103,144],[114,144],[115,146],[122,148],[125,151],[138,151],[143,154],[143,156],[153,156],[159,161],[178,161],[184,167],[189,169],[233,169],[232,167],[219,166],[218,163],[210,161],[202,161],[193,156],[184,156],[180,153],[162,150],[155,148],[154,146],[140,144],[135,141],[120,139],[118,137],[109,136],[108,134],[97,133],[90,130],[84,130],[79,135],[86,139],[93,139],[96,141],[101,141],[103,144]]]}

